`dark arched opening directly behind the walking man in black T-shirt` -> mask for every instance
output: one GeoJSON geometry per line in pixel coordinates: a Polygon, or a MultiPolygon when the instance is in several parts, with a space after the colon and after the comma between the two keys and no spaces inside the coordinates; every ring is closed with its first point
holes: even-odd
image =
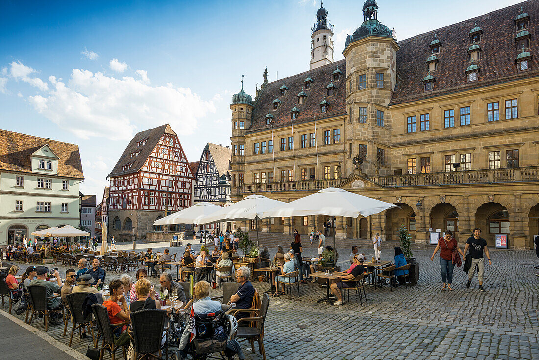
{"type": "MultiPolygon", "coordinates": [[[[509,234],[509,212],[498,202],[483,203],[475,212],[475,227],[481,229],[481,237],[488,246],[496,246],[496,234],[509,234]]],[[[508,236],[508,245],[511,239],[508,236]]]]}

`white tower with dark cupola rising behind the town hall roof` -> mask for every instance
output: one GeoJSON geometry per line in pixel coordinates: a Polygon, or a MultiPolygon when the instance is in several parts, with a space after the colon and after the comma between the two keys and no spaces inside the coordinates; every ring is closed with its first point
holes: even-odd
{"type": "Polygon", "coordinates": [[[316,11],[316,23],[310,35],[310,69],[333,63],[333,24],[328,21],[328,11],[322,2],[316,11]]]}

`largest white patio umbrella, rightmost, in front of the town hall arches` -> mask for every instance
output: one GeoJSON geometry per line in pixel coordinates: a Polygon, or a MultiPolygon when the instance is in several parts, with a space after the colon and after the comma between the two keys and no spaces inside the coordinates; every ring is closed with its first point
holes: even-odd
{"type": "MultiPolygon", "coordinates": [[[[378,214],[384,210],[400,208],[393,203],[376,200],[344,189],[328,187],[301,199],[265,211],[261,218],[291,218],[292,216],[327,215],[357,218],[378,214]]],[[[335,219],[334,219],[335,220],[335,219]]],[[[335,247],[335,229],[333,230],[335,247]]]]}

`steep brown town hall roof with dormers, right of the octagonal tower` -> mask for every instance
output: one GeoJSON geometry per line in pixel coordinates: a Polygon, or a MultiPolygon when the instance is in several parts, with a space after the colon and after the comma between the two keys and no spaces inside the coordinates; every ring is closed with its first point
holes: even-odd
{"type": "MultiPolygon", "coordinates": [[[[515,43],[515,36],[519,33],[515,19],[521,13],[521,6],[530,14],[528,31],[536,34],[539,25],[539,0],[532,0],[400,41],[400,50],[397,51],[397,85],[391,105],[503,83],[516,78],[537,76],[539,67],[534,66],[535,58],[531,60],[531,69],[528,71],[517,71],[515,64],[515,59],[521,52],[517,51],[515,43]],[[480,73],[479,81],[468,83],[465,71],[471,64],[467,53],[471,45],[469,32],[475,28],[475,21],[482,30],[481,42],[478,43],[481,46],[481,58],[474,62],[479,66],[480,73]],[[434,91],[425,93],[421,80],[427,74],[425,61],[431,55],[429,44],[434,40],[435,33],[441,42],[441,51],[436,54],[439,60],[438,69],[431,72],[431,75],[437,82],[434,91]]],[[[539,43],[533,35],[527,51],[532,55],[539,51],[539,43]]]]}

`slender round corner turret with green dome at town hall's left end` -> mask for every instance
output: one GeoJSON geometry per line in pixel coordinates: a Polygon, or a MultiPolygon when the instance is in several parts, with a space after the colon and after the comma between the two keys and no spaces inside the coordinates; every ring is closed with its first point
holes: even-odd
{"type": "Polygon", "coordinates": [[[245,179],[245,131],[251,126],[253,111],[252,98],[243,91],[243,80],[241,80],[241,90],[232,96],[232,196],[233,202],[241,200],[239,188],[245,179]]]}

